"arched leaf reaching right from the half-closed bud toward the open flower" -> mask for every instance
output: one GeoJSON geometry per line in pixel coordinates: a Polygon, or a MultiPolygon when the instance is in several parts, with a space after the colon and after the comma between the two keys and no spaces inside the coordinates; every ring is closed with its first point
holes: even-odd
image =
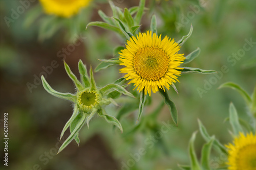
{"type": "Polygon", "coordinates": [[[128,95],[132,98],[135,98],[134,95],[130,92],[128,92],[127,90],[125,90],[122,86],[118,85],[118,84],[108,84],[105,87],[100,89],[100,92],[102,93],[102,95],[107,95],[112,91],[118,91],[124,95],[128,95]]]}

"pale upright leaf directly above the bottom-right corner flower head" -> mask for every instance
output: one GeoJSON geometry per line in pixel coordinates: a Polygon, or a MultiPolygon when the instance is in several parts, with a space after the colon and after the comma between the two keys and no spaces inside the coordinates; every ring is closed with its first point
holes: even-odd
{"type": "Polygon", "coordinates": [[[232,103],[230,103],[230,106],[229,106],[229,122],[232,126],[234,135],[237,136],[239,135],[239,132],[243,132],[243,128],[239,123],[237,110],[232,103]]]}

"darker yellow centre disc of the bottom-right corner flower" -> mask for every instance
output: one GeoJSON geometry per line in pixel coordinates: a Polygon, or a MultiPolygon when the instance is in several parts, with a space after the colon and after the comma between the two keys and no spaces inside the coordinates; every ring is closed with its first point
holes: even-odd
{"type": "Polygon", "coordinates": [[[242,148],[237,157],[238,169],[256,169],[256,144],[250,144],[242,148]]]}

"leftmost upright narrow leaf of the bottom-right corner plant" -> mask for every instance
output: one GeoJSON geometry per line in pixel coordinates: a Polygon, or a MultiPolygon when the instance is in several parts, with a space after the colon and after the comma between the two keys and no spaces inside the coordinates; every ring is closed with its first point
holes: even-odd
{"type": "Polygon", "coordinates": [[[194,132],[192,137],[189,140],[189,158],[191,163],[191,169],[192,170],[201,170],[201,167],[198,163],[197,155],[194,148],[194,142],[196,139],[197,132],[194,132]]]}

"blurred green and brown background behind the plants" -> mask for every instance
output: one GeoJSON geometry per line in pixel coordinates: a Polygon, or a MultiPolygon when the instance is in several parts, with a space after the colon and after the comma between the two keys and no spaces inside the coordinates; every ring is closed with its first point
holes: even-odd
{"type": "MultiPolygon", "coordinates": [[[[113,0],[113,3],[120,8],[130,8],[138,6],[139,1],[113,0]]],[[[152,148],[147,148],[146,154],[141,156],[138,162],[135,161],[134,166],[125,168],[124,164],[129,164],[129,160],[134,159],[133,156],[140,148],[147,147],[145,140],[151,134],[149,130],[138,130],[131,135],[124,135],[135,126],[134,117],[137,116],[137,111],[121,119],[124,134],[113,130],[103,119],[93,118],[90,128],[83,127],[80,132],[80,147],[72,142],[56,155],[59,147],[57,138],[73,108],[71,103],[47,93],[36,79],[45,71],[44,68],[49,68],[51,63],[56,61],[56,67],[49,70],[50,74],[47,74],[46,80],[57,91],[75,92],[74,85],[63,67],[63,57],[59,54],[63,54],[63,48],[74,43],[67,35],[76,35],[66,27],[61,27],[49,38],[42,40],[38,38],[38,30],[44,21],[41,18],[25,27],[28,14],[31,15],[29,12],[40,8],[37,1],[31,3],[31,6],[10,22],[8,27],[4,18],[11,17],[13,9],[16,10],[20,2],[2,0],[0,4],[1,134],[4,133],[4,113],[9,113],[9,164],[6,167],[1,162],[1,169],[178,169],[177,164],[189,162],[188,140],[191,134],[198,130],[198,118],[209,134],[215,134],[222,143],[231,141],[228,133],[230,126],[224,123],[230,102],[234,103],[239,115],[249,121],[245,103],[240,95],[231,89],[218,87],[224,82],[232,81],[252,93],[256,84],[256,1],[147,1],[148,9],[142,19],[142,32],[150,28],[152,14],[157,15],[158,33],[175,40],[188,33],[191,23],[194,27],[193,34],[182,46],[181,52],[186,55],[200,47],[201,54],[188,66],[214,69],[218,74],[189,74],[179,77],[180,83],[176,83],[179,95],[170,90],[170,96],[179,112],[179,126],[173,126],[161,140],[154,142],[152,148]],[[250,49],[243,51],[246,39],[254,43],[251,43],[251,46],[246,45],[250,49]],[[232,57],[236,54],[237,58],[232,57]],[[223,66],[228,71],[223,72],[223,66]],[[28,88],[28,83],[34,86],[28,88]],[[200,95],[199,88],[206,91],[200,95]]],[[[95,68],[99,64],[98,59],[112,58],[113,49],[125,44],[113,32],[96,27],[85,30],[88,22],[101,21],[97,13],[99,9],[112,16],[106,1],[93,1],[91,7],[80,13],[84,14],[81,16],[82,32],[78,34],[83,37],[82,42],[75,46],[75,50],[67,54],[65,59],[76,75],[79,59],[86,63],[87,67],[92,65],[95,68]]],[[[120,68],[113,66],[95,73],[97,85],[104,86],[120,78],[120,68]]],[[[145,108],[144,116],[156,108],[161,99],[160,94],[153,94],[152,104],[145,108]]],[[[109,106],[107,110],[116,115],[120,108],[109,106]]],[[[159,112],[156,121],[160,126],[163,122],[172,123],[167,106],[159,112]]],[[[153,125],[152,128],[154,129],[153,125]]],[[[204,140],[198,135],[198,156],[203,143],[204,140]]],[[[0,153],[1,157],[4,156],[2,147],[0,153]]],[[[216,163],[216,158],[219,157],[213,152],[212,163],[216,163]]]]}

